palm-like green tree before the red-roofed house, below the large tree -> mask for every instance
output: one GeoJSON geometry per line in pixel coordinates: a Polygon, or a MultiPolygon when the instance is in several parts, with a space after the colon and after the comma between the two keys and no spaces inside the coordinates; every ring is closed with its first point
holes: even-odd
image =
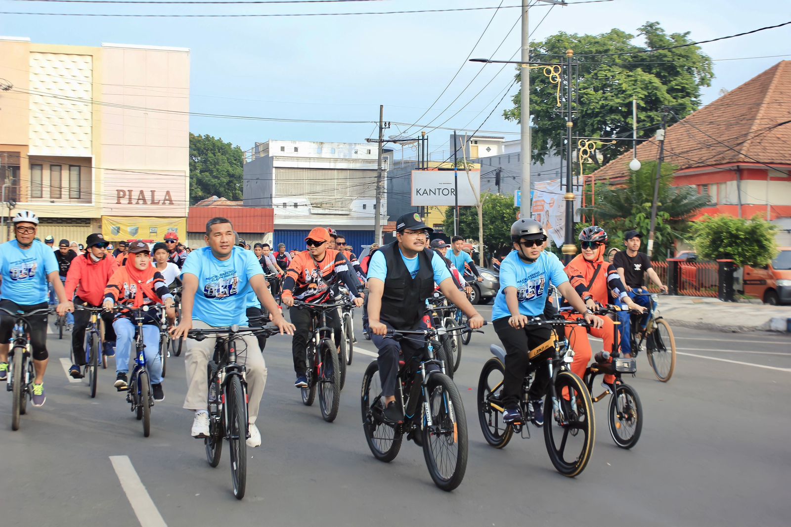
{"type": "MultiPolygon", "coordinates": [[[[664,260],[676,240],[686,239],[691,225],[689,218],[709,203],[709,197],[699,195],[694,187],[673,187],[675,172],[675,166],[662,165],[653,251],[660,260],[664,260]]],[[[607,184],[596,187],[594,204],[582,207],[581,213],[588,222],[595,221],[607,231],[613,247],[623,247],[623,233],[630,229],[637,230],[648,240],[656,178],[656,161],[646,162],[640,170],[630,174],[624,187],[615,188],[607,184]]]]}

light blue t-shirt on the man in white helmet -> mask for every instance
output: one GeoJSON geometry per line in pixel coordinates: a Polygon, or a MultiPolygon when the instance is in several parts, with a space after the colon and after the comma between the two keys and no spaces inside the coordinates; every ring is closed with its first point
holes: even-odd
{"type": "Polygon", "coordinates": [[[36,305],[47,301],[47,275],[59,272],[55,252],[44,243],[33,240],[23,250],[16,240],[0,245],[0,298],[18,305],[36,305]]]}

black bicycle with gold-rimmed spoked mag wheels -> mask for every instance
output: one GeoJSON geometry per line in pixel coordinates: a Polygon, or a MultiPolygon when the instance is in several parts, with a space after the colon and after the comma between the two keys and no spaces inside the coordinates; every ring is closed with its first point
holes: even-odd
{"type": "Polygon", "coordinates": [[[548,325],[552,330],[551,338],[547,342],[528,353],[531,365],[522,381],[519,401],[521,414],[528,419],[522,419],[522,423],[499,422],[505,411],[502,401],[505,351],[492,344],[490,352],[494,357],[483,365],[478,383],[478,417],[483,438],[497,449],[504,448],[514,433],[520,434],[522,438],[530,438],[527,422],[532,419],[533,411],[528,401],[528,391],[535,380],[536,370],[546,367],[549,370],[550,382],[547,384],[544,410],[546,414],[546,409],[551,408],[552,414],[543,423],[544,443],[554,468],[563,476],[574,477],[585,470],[590,461],[596,442],[596,423],[588,388],[571,371],[574,352],[566,339],[565,326],[588,324],[585,320],[566,320],[563,317],[536,317],[528,325],[548,325]],[[524,435],[525,432],[527,436],[524,435]],[[568,457],[567,449],[571,450],[568,457]]]}

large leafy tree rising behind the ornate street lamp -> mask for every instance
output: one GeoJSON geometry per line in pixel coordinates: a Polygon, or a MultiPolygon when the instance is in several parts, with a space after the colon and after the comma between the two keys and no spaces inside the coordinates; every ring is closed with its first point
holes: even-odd
{"type": "MultiPolygon", "coordinates": [[[[562,62],[568,49],[580,54],[576,59],[579,104],[575,107],[574,132],[581,137],[630,137],[633,99],[638,102],[638,127],[645,128],[638,131],[638,137],[642,138],[652,135],[652,127],[661,122],[663,106],[672,106],[682,118],[700,107],[701,89],[710,86],[713,78],[711,59],[700,47],[645,53],[688,44],[689,33],[668,35],[657,22],[648,22],[639,28],[638,35],[645,45],[633,44],[634,35],[620,29],[601,35],[559,32],[531,45],[533,61],[562,62]]],[[[562,108],[558,108],[557,85],[551,84],[543,68],[530,70],[530,83],[532,156],[543,161],[547,152],[560,150],[564,144],[566,116],[558,110],[566,109],[563,104],[566,92],[561,90],[562,108]]],[[[505,119],[519,121],[519,93],[513,97],[513,104],[514,108],[505,110],[503,115],[505,119]]],[[[622,141],[602,146],[598,151],[604,157],[603,164],[607,164],[630,147],[629,142],[622,141]]]]}

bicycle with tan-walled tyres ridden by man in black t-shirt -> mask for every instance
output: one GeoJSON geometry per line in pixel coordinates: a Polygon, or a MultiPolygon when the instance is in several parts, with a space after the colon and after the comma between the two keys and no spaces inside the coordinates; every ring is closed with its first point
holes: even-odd
{"type": "Polygon", "coordinates": [[[641,328],[642,315],[631,315],[632,357],[637,358],[645,343],[645,354],[654,375],[662,382],[670,381],[673,371],[676,370],[676,338],[673,336],[673,330],[668,321],[659,314],[657,294],[638,293],[637,295],[649,297],[651,307],[648,320],[645,321],[645,329],[641,328]]]}

